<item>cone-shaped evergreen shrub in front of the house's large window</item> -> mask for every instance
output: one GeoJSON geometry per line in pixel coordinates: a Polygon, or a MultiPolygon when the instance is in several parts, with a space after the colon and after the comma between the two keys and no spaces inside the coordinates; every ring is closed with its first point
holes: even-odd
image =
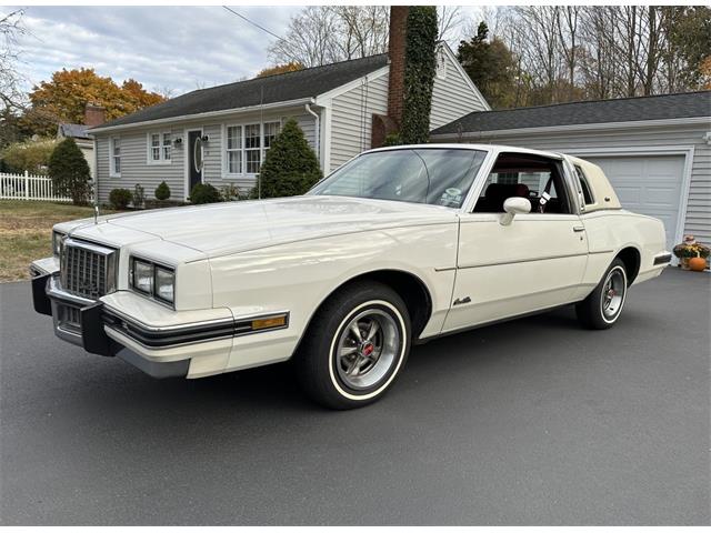
{"type": "MultiPolygon", "coordinates": [[[[289,119],[267,151],[260,171],[261,198],[293,197],[322,178],[319,160],[294,119],[289,119]]],[[[254,188],[251,198],[257,198],[254,188]]]]}

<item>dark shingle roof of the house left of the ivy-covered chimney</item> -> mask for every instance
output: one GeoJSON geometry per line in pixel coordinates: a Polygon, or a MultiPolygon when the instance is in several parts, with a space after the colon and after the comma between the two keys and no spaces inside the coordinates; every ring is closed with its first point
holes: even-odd
{"type": "Polygon", "coordinates": [[[381,53],[296,72],[211,87],[144,108],[136,113],[106,122],[99,128],[311,98],[362,78],[385,64],[388,64],[388,54],[381,53]]]}

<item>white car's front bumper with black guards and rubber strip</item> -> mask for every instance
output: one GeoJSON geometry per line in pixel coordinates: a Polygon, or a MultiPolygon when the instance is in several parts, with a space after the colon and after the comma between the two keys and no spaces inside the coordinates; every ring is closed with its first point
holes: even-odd
{"type": "Polygon", "coordinates": [[[286,361],[298,341],[288,311],[174,311],[131,291],[94,301],[67,292],[54,265],[42,266],[32,263],[32,301],[38,313],[52,316],[57,336],[154,378],[202,378],[286,361]],[[280,323],[264,324],[277,318],[280,323]]]}

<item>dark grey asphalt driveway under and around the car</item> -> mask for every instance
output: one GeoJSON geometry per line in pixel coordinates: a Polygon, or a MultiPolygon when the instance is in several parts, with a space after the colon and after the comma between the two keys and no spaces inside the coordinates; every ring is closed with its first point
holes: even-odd
{"type": "Polygon", "coordinates": [[[287,365],[153,381],[2,285],[0,523],[708,524],[709,281],[431,342],[342,413],[287,365]]]}

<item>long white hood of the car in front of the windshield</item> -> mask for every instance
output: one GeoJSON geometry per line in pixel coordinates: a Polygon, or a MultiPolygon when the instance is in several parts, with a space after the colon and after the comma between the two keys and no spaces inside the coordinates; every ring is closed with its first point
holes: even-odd
{"type": "MultiPolygon", "coordinates": [[[[152,237],[216,257],[304,239],[454,221],[455,211],[438,205],[306,195],[104,217],[100,225],[104,241],[112,234],[119,241],[142,234],[141,241],[152,237]]],[[[72,234],[81,237],[91,225],[93,221],[72,234]]]]}

